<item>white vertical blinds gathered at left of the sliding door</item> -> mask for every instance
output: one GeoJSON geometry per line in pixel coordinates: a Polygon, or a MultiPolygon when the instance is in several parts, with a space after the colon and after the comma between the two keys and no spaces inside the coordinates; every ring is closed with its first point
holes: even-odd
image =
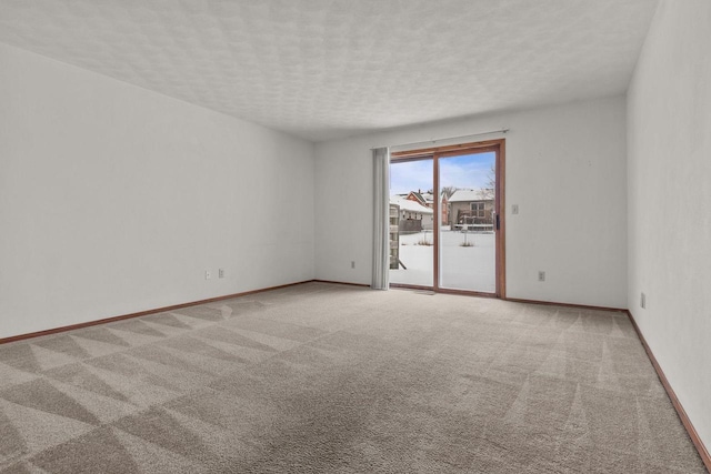
{"type": "Polygon", "coordinates": [[[373,281],[374,290],[388,290],[390,249],[390,150],[373,150],[373,281]]]}

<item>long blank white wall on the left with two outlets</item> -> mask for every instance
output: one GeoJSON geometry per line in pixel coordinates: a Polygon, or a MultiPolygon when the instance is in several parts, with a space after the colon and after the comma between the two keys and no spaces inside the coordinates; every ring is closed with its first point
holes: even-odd
{"type": "Polygon", "coordinates": [[[0,337],[310,280],[312,186],[312,143],[0,44],[0,337]]]}

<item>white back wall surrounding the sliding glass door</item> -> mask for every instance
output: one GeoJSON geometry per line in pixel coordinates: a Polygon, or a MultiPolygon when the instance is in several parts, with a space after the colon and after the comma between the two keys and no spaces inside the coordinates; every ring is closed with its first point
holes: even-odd
{"type": "MultiPolygon", "coordinates": [[[[317,144],[317,278],[370,283],[371,147],[504,127],[511,129],[505,135],[507,295],[625,307],[623,97],[317,144]],[[518,215],[510,214],[511,204],[519,204],[518,215]],[[539,270],[547,272],[544,283],[537,280],[539,270]]],[[[495,135],[481,140],[490,138],[495,135]]]]}

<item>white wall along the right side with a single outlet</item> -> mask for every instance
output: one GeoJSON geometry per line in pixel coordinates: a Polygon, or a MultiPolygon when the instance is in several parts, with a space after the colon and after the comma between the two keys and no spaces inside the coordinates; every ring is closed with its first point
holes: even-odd
{"type": "Polygon", "coordinates": [[[708,447],[710,44],[711,2],[662,0],[628,94],[629,307],[708,447]]]}

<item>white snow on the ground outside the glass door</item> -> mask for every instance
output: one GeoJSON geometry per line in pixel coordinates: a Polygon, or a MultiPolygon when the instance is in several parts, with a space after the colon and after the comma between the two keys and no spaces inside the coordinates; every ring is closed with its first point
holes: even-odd
{"type": "MultiPolygon", "coordinates": [[[[400,235],[400,266],[390,283],[432,286],[432,231],[400,235]],[[430,245],[423,245],[428,242],[430,245]]],[[[440,286],[485,293],[495,291],[494,234],[443,230],[440,236],[440,286]],[[461,246],[467,240],[473,246],[461,246]]]]}

